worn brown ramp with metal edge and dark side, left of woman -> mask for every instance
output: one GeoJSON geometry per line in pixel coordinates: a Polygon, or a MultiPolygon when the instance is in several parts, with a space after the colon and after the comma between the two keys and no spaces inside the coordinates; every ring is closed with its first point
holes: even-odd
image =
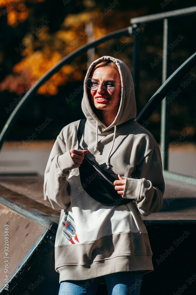
{"type": "Polygon", "coordinates": [[[28,197],[20,201],[20,194],[4,187],[0,195],[0,234],[6,235],[0,242],[0,294],[56,294],[54,242],[60,212],[28,197]]]}

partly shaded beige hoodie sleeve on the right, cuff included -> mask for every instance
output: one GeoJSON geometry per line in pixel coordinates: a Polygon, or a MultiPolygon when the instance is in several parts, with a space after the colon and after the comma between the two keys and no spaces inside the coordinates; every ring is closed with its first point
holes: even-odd
{"type": "Polygon", "coordinates": [[[143,216],[159,211],[163,206],[165,182],[158,145],[136,166],[136,178],[126,177],[123,198],[135,199],[143,216]]]}

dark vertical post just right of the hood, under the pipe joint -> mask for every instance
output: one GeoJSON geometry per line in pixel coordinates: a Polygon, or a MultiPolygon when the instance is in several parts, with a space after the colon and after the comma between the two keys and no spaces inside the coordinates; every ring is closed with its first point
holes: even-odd
{"type": "Polygon", "coordinates": [[[139,80],[140,80],[140,64],[139,64],[139,32],[137,25],[133,25],[133,34],[135,36],[133,43],[133,83],[135,86],[135,100],[137,109],[139,109],[139,80]]]}

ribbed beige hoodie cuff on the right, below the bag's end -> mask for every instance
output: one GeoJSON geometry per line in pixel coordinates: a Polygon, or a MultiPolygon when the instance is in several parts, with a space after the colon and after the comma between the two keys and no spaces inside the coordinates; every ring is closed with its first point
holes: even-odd
{"type": "Polygon", "coordinates": [[[140,192],[142,188],[142,179],[126,178],[125,189],[123,191],[123,198],[135,199],[136,201],[140,198],[140,192]]]}

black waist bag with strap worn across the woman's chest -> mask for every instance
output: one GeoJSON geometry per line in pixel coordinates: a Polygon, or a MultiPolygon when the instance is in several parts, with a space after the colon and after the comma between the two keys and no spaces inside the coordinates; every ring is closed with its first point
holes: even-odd
{"type": "MultiPolygon", "coordinates": [[[[82,119],[78,126],[78,150],[83,150],[80,146],[80,140],[85,123],[86,119],[82,119]]],[[[88,159],[86,155],[84,155],[84,160],[79,166],[79,173],[83,189],[97,202],[106,206],[120,206],[133,201],[133,199],[123,199],[114,188],[115,178],[98,164],[88,159]]]]}

